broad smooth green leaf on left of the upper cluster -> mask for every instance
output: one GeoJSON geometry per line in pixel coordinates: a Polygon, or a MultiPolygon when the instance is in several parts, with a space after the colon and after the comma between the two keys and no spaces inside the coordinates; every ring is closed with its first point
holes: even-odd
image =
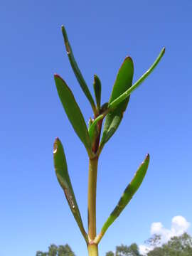
{"type": "Polygon", "coordinates": [[[68,119],[70,123],[73,125],[73,129],[75,130],[76,134],[85,145],[89,156],[92,155],[91,151],[91,141],[90,136],[87,131],[87,126],[85,124],[85,119],[82,116],[82,112],[80,111],[80,107],[78,106],[77,102],[75,101],[75,97],[71,92],[68,85],[65,81],[60,78],[59,75],[55,75],[55,84],[58,90],[58,95],[60,97],[60,101],[64,107],[66,114],[68,115],[68,119]]]}

